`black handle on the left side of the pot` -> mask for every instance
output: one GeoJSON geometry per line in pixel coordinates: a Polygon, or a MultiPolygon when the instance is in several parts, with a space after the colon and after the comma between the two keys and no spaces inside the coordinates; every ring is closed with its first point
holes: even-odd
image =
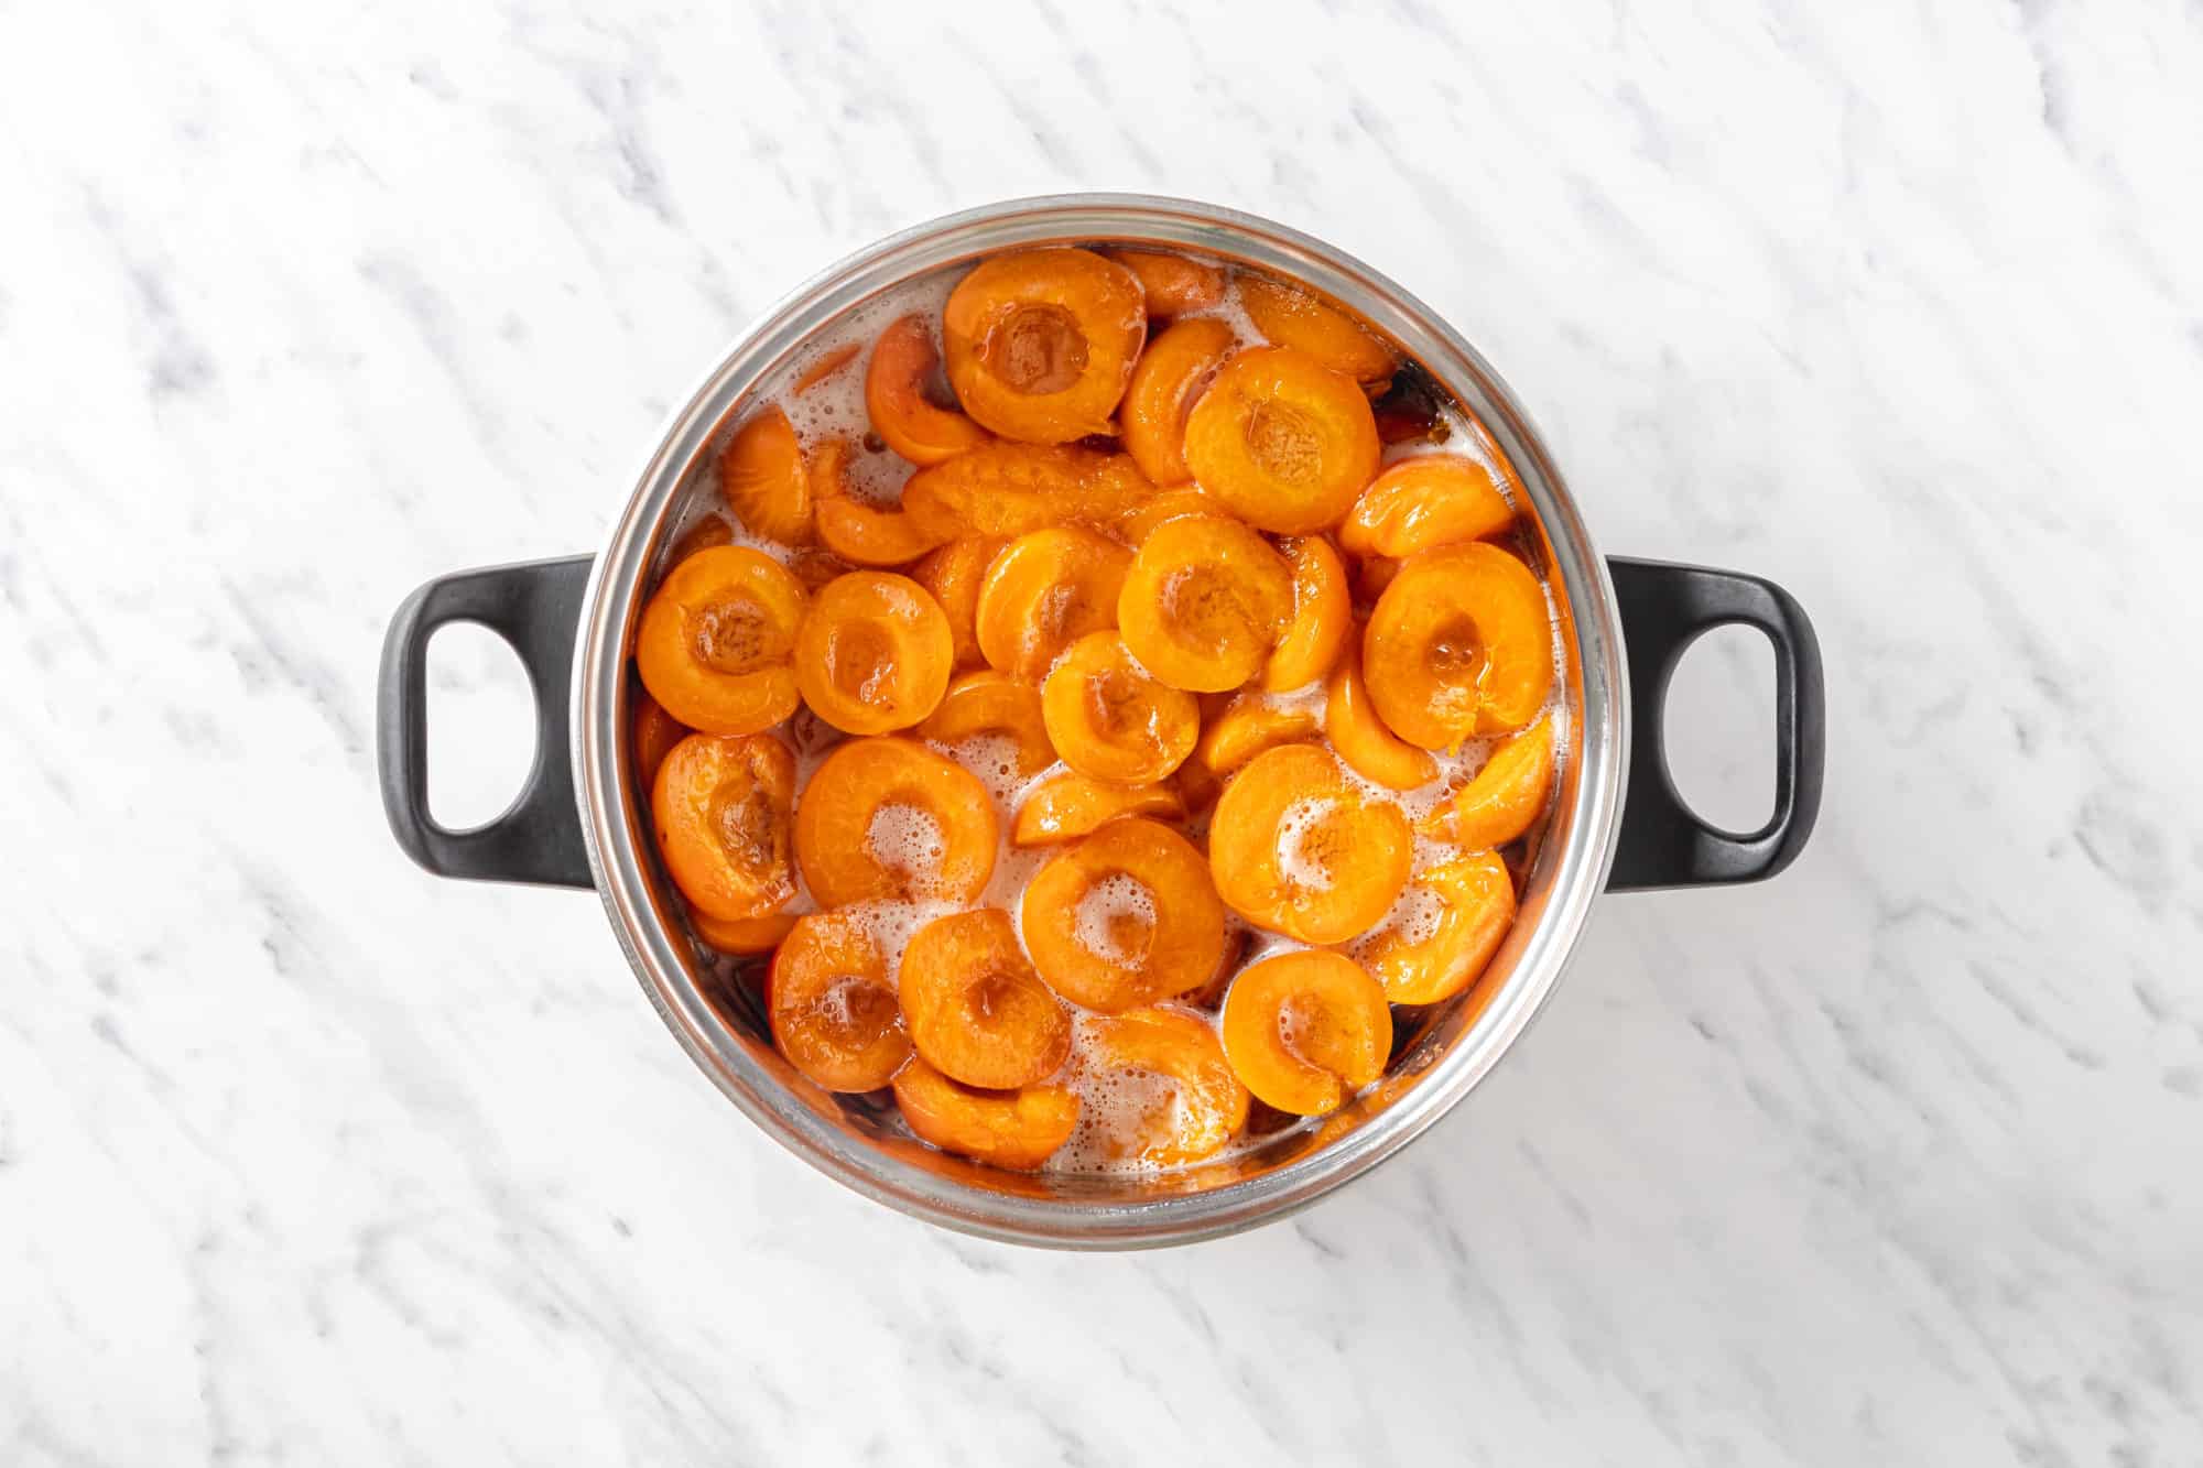
{"type": "Polygon", "coordinates": [[[441,575],[390,617],[375,701],[383,811],[405,855],[438,877],[593,886],[566,734],[590,562],[568,555],[441,575]],[[452,831],[427,813],[427,639],[447,622],[476,622],[502,637],[535,686],[529,780],[511,809],[471,831],[452,831]]]}

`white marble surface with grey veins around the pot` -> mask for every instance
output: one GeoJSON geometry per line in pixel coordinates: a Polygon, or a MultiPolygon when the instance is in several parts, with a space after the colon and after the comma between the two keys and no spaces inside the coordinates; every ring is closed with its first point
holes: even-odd
{"type": "MultiPolygon", "coordinates": [[[[2203,15],[921,9],[0,2],[0,1461],[2196,1461],[2203,15]],[[370,780],[414,582],[1066,187],[1372,260],[1828,659],[1787,877],[1608,902],[1403,1159],[1150,1256],[844,1195],[370,780]]],[[[493,805],[513,683],[438,694],[493,805]]]]}

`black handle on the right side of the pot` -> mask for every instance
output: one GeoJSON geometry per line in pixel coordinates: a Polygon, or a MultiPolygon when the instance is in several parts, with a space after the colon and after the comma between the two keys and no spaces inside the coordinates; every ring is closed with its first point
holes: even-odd
{"type": "Polygon", "coordinates": [[[1820,641],[1791,593],[1756,575],[1606,560],[1630,659],[1630,787],[1608,890],[1760,882],[1789,866],[1820,816],[1826,716],[1820,641]],[[1776,646],[1776,813],[1751,835],[1718,831],[1683,805],[1668,774],[1668,679],[1716,626],[1756,626],[1776,646]]]}

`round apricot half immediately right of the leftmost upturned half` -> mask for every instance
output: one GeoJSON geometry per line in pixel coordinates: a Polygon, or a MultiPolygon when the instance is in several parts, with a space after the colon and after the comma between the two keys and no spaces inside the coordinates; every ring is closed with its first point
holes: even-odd
{"type": "Polygon", "coordinates": [[[795,633],[795,683],[844,734],[908,730],[949,686],[947,613],[908,575],[850,571],[826,582],[795,633]]]}

